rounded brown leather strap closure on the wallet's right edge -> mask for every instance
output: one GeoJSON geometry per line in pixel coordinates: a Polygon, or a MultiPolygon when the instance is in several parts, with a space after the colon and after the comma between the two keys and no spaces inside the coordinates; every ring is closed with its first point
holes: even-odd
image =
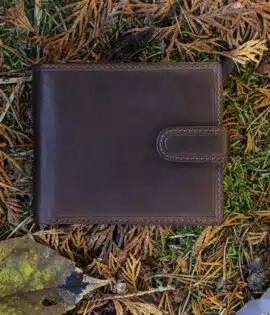
{"type": "Polygon", "coordinates": [[[221,163],[227,160],[228,136],[222,127],[170,127],[160,131],[157,151],[167,161],[221,163]]]}

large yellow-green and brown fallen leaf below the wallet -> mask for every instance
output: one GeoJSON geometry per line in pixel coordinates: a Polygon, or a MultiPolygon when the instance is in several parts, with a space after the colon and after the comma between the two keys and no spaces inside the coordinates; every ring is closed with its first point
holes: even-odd
{"type": "Polygon", "coordinates": [[[60,315],[110,282],[84,275],[31,236],[0,243],[0,314],[60,315]]]}

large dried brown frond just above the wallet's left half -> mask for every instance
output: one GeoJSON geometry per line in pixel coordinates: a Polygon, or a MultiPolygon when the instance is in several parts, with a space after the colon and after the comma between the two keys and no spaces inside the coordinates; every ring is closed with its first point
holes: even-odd
{"type": "Polygon", "coordinates": [[[106,0],[96,2],[95,0],[85,0],[68,4],[58,10],[56,15],[72,10],[73,13],[63,19],[65,25],[70,25],[68,29],[50,38],[33,38],[44,42],[43,55],[46,61],[73,61],[80,55],[91,55],[91,43],[98,37],[106,33],[121,16],[125,7],[125,2],[112,2],[106,0]],[[90,52],[89,52],[90,49],[90,52]]]}

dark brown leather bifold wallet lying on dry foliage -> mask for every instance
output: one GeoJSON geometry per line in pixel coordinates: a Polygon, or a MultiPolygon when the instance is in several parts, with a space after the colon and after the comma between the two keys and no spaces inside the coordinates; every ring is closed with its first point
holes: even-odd
{"type": "Polygon", "coordinates": [[[33,69],[37,222],[217,224],[219,64],[33,69]]]}

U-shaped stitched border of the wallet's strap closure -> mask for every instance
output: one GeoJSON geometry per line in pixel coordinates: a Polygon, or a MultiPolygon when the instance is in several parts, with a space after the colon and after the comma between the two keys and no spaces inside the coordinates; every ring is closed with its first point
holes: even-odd
{"type": "Polygon", "coordinates": [[[176,135],[180,136],[183,134],[188,134],[188,136],[191,136],[191,134],[198,134],[198,136],[204,136],[204,135],[224,135],[225,130],[220,130],[215,127],[213,128],[167,128],[158,136],[158,151],[164,159],[168,161],[224,161],[226,159],[226,153],[223,152],[222,154],[212,154],[209,156],[208,154],[202,154],[201,156],[197,155],[170,155],[165,152],[164,150],[164,140],[168,135],[176,135]],[[201,133],[201,134],[200,134],[201,133]]]}

